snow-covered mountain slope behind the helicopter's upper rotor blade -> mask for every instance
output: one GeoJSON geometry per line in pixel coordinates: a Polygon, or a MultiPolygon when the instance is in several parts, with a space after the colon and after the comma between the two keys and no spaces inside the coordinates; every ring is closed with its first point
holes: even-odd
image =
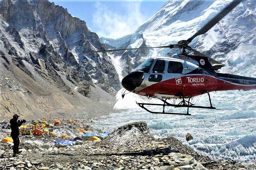
{"type": "MultiPolygon", "coordinates": [[[[147,45],[168,45],[187,40],[232,0],[172,0],[137,29],[147,45]]],[[[236,73],[255,64],[256,1],[245,0],[190,46],[227,66],[222,72],[236,73]]],[[[157,50],[166,55],[170,49],[157,50]]],[[[252,73],[252,75],[256,75],[252,73]]]]}

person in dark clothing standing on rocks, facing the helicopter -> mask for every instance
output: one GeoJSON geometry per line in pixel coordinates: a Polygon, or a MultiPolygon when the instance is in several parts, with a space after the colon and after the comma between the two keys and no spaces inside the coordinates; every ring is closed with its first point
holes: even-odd
{"type": "Polygon", "coordinates": [[[11,124],[11,137],[13,139],[13,156],[17,156],[18,153],[20,153],[21,151],[19,151],[19,144],[20,144],[20,139],[19,139],[19,127],[23,124],[26,123],[26,120],[21,120],[18,121],[20,116],[18,116],[17,114],[13,115],[13,118],[10,120],[10,124],[11,124]]]}

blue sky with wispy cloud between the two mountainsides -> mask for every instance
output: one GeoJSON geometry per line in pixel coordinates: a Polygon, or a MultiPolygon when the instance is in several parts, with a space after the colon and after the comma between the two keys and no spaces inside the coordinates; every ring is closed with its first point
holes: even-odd
{"type": "Polygon", "coordinates": [[[50,0],[86,22],[100,37],[120,38],[135,33],[168,0],[50,0]]]}

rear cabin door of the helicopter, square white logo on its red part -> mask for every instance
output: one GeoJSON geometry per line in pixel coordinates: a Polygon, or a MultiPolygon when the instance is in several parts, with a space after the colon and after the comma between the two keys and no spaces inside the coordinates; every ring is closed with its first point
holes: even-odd
{"type": "Polygon", "coordinates": [[[162,94],[173,98],[182,91],[185,70],[182,61],[168,60],[165,81],[163,82],[162,94]]]}

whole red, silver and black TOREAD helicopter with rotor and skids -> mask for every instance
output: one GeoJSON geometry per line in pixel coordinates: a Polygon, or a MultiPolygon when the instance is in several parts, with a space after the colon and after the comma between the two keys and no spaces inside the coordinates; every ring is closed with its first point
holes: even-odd
{"type": "MultiPolygon", "coordinates": [[[[212,106],[210,92],[256,89],[256,78],[216,72],[224,65],[193,49],[188,44],[192,42],[195,37],[209,31],[241,1],[242,0],[233,0],[191,38],[179,41],[177,44],[157,47],[89,51],[85,53],[148,48],[179,48],[182,50],[180,54],[174,54],[171,57],[149,58],[122,79],[122,86],[132,93],[161,100],[163,104],[136,102],[139,107],[153,114],[191,115],[189,114],[189,108],[216,109],[212,106]],[[192,50],[194,54],[189,55],[186,49],[192,50]],[[210,106],[196,106],[191,103],[193,97],[206,93],[209,97],[210,106]],[[171,99],[173,99],[172,103],[169,102],[171,99]],[[175,99],[181,99],[181,101],[176,104],[175,99]],[[163,111],[151,111],[146,106],[162,106],[163,111]],[[187,113],[165,112],[165,107],[169,106],[174,108],[187,108],[187,113]]],[[[122,97],[124,97],[124,95],[125,92],[122,93],[122,97]]]]}

